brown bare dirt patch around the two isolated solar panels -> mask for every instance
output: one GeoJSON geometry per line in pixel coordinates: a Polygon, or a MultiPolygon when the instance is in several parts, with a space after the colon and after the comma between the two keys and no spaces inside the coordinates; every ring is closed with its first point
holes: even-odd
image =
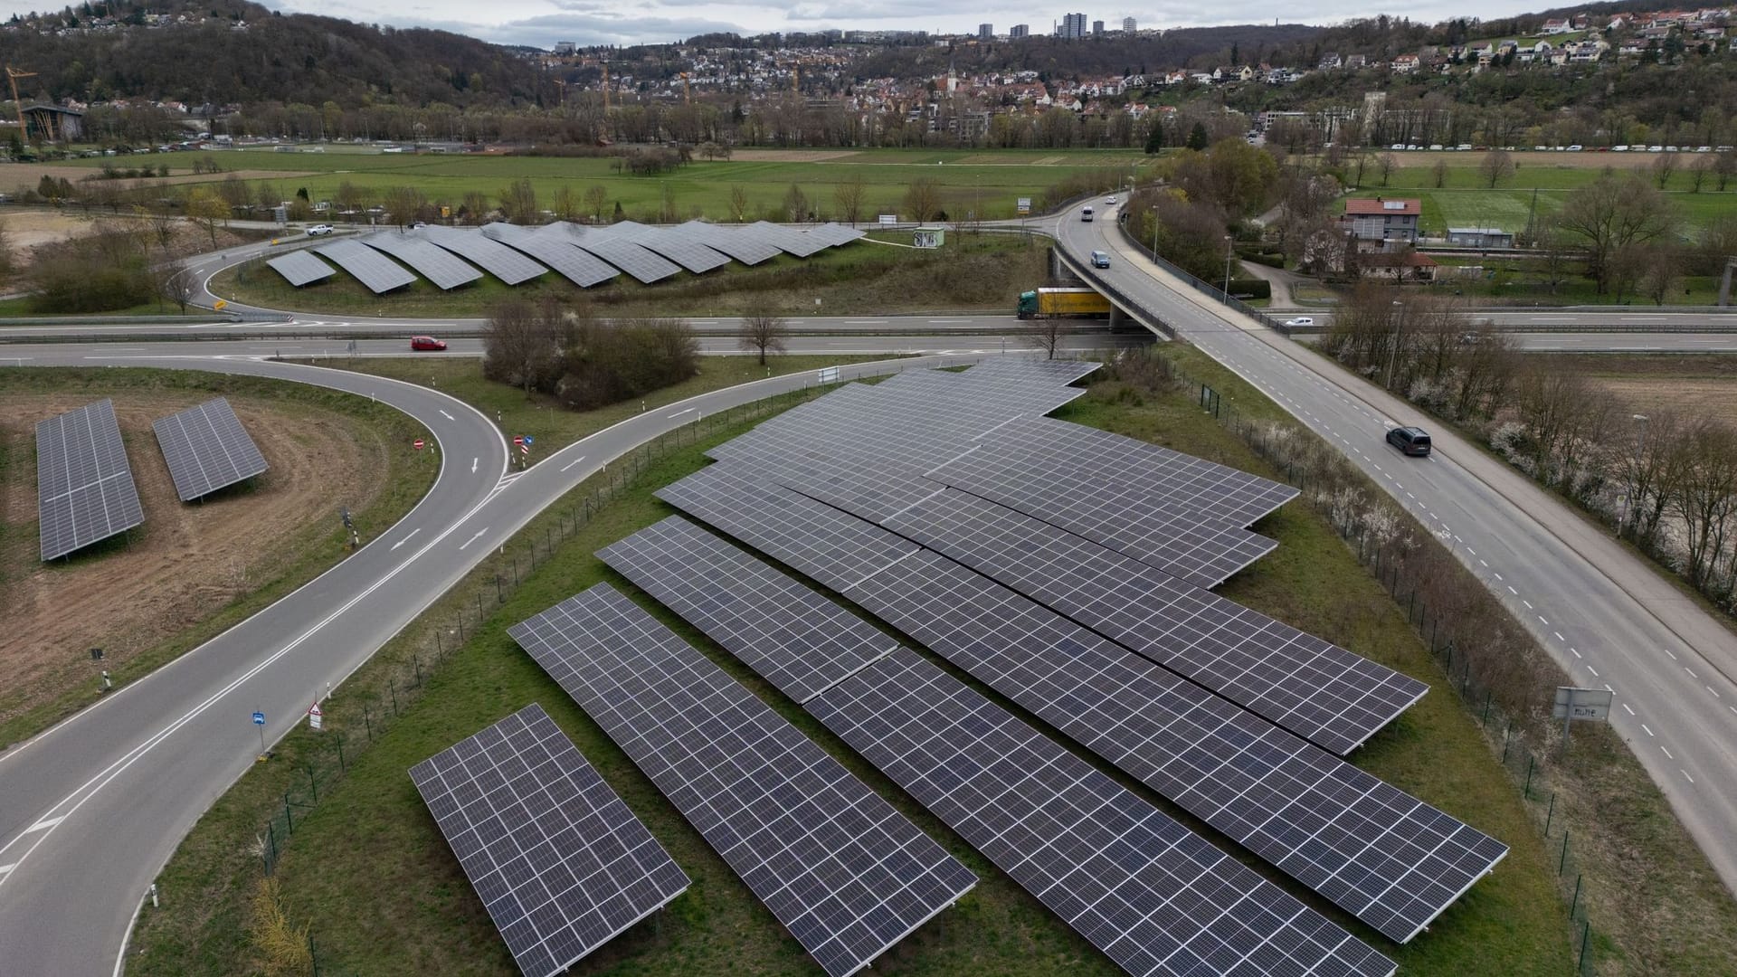
{"type": "Polygon", "coordinates": [[[382,488],[384,445],[342,414],[229,396],[271,466],[257,485],[182,504],[151,421],[208,393],[116,393],[144,525],[130,542],[97,544],[69,563],[42,563],[36,546],[35,424],[90,403],[90,395],[0,395],[0,438],[12,471],[0,483],[5,628],[0,628],[0,720],[82,681],[96,681],[90,648],[118,664],[181,633],[276,575],[323,535],[335,506],[360,509],[382,488]],[[104,549],[104,546],[108,549],[104,549]]]}

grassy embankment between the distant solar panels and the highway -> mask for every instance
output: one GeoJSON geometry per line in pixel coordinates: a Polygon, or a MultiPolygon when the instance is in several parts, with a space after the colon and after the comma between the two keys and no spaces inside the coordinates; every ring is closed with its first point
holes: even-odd
{"type": "MultiPolygon", "coordinates": [[[[896,240],[910,243],[910,235],[896,240]]],[[[730,266],[709,275],[683,271],[655,285],[625,275],[606,285],[577,289],[549,273],[509,287],[493,276],[441,292],[424,278],[387,296],[375,296],[347,273],[295,289],[255,263],[217,275],[210,289],[228,299],[334,315],[469,318],[488,315],[505,299],[563,301],[580,297],[606,316],[742,315],[769,301],[787,315],[884,315],[931,309],[988,308],[1011,311],[1020,292],[1044,282],[1044,243],[1018,235],[952,235],[947,247],[915,250],[858,242],[813,257],[780,256],[752,268],[730,266]]]]}

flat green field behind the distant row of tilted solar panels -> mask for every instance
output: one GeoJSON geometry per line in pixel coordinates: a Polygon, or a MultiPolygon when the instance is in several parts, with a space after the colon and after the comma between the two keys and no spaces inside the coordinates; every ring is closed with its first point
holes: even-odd
{"type": "MultiPolygon", "coordinates": [[[[764,151],[761,151],[764,153],[764,151]]],[[[554,205],[556,189],[566,186],[575,200],[598,184],[608,191],[603,212],[608,217],[615,203],[627,217],[655,221],[664,203],[664,193],[674,195],[676,212],[683,217],[730,217],[730,193],[742,186],[749,198],[750,219],[785,219],[783,198],[796,184],[809,203],[823,216],[837,216],[834,188],[851,177],[865,184],[863,219],[875,214],[896,214],[905,188],[917,177],[941,184],[941,202],[948,217],[976,212],[981,219],[1014,217],[1020,196],[1042,196],[1051,184],[1079,174],[1115,169],[1126,179],[1143,155],[1133,151],[1056,150],[1056,151],[969,151],[969,150],[863,150],[841,151],[829,160],[801,162],[757,160],[757,153],[743,151],[735,160],[695,160],[662,176],[629,176],[613,169],[611,158],[552,158],[552,156],[483,156],[462,153],[427,155],[363,155],[363,153],[274,153],[261,150],[219,153],[175,153],[167,156],[175,172],[186,172],[193,160],[208,156],[228,170],[280,170],[281,179],[264,179],[281,188],[288,200],[306,188],[311,200],[334,200],[340,183],[351,183],[375,200],[393,186],[412,184],[436,205],[453,209],[469,191],[495,200],[514,179],[530,179],[542,207],[554,205]]],[[[801,156],[801,151],[792,156],[801,156]]],[[[825,153],[830,155],[830,153],[825,153]]],[[[160,160],[165,156],[151,156],[160,160]]],[[[97,167],[102,160],[68,160],[68,165],[97,167]]],[[[109,160],[113,162],[113,160],[109,160]]],[[[0,174],[3,177],[3,174],[0,174]]],[[[222,179],[222,174],[214,179],[222,179]]]]}

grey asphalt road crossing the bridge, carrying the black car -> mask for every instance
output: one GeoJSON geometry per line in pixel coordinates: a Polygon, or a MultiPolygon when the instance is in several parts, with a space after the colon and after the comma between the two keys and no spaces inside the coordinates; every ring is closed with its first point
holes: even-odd
{"type": "Polygon", "coordinates": [[[1082,268],[1089,250],[1110,250],[1113,266],[1094,275],[1337,447],[1450,546],[1575,685],[1614,690],[1610,721],[1737,890],[1737,636],[1454,433],[1433,429],[1424,461],[1391,450],[1386,428],[1419,422],[1419,412],[1159,271],[1122,242],[1113,214],[1105,217],[1061,219],[1054,231],[1082,268]]]}

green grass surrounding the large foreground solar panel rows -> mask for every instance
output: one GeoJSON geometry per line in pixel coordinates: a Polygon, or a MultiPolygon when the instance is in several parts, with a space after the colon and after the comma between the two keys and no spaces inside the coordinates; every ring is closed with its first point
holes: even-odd
{"type": "MultiPolygon", "coordinates": [[[[1143,398],[1106,384],[1061,415],[1270,475],[1240,442],[1195,410],[1181,393],[1143,398]]],[[[738,429],[719,431],[714,438],[665,455],[627,494],[606,504],[566,544],[558,546],[552,558],[526,577],[516,593],[509,593],[505,605],[472,631],[469,641],[429,678],[424,697],[370,749],[353,754],[347,777],[321,791],[320,805],[299,815],[297,833],[278,864],[278,878],[290,918],[295,925],[307,925],[318,942],[323,972],[514,972],[405,770],[535,701],[549,709],[695,880],[693,888],[667,913],[604,946],[587,961],[587,972],[813,974],[806,954],[698,833],[504,633],[511,622],[596,581],[610,579],[636,593],[592,553],[665,516],[670,509],[650,492],[700,468],[700,452],[738,429]]],[[[1228,596],[1417,675],[1435,687],[1393,728],[1358,751],[1355,761],[1470,819],[1513,847],[1496,874],[1464,895],[1435,923],[1433,932],[1403,947],[1388,944],[1311,895],[1306,901],[1395,956],[1405,974],[1567,974],[1572,968],[1569,934],[1563,907],[1551,888],[1548,855],[1515,789],[1485,748],[1476,723],[1447,690],[1402,612],[1357,565],[1331,528],[1306,508],[1289,506],[1259,528],[1278,539],[1280,549],[1238,575],[1226,589],[1228,596]]],[[[530,532],[538,532],[537,523],[530,532]]],[[[636,596],[981,878],[957,909],[926,923],[877,960],[877,972],[908,977],[1119,974],[1106,958],[802,709],[782,699],[667,610],[643,595],[636,596]]],[[[457,600],[466,600],[466,595],[457,600]]],[[[406,629],[382,657],[405,657],[405,647],[429,641],[426,628],[427,624],[419,622],[406,629]]],[[[356,687],[367,688],[368,681],[370,673],[365,669],[353,685],[346,685],[339,699],[349,699],[347,708],[354,711],[356,697],[368,695],[356,687]]],[[[354,720],[328,720],[328,725],[349,730],[351,742],[361,739],[354,720]]],[[[247,848],[257,826],[281,803],[274,793],[299,775],[294,763],[309,748],[311,737],[302,730],[285,741],[285,765],[274,763],[248,774],[188,838],[163,873],[162,885],[168,895],[163,907],[148,906],[141,914],[134,939],[139,953],[129,960],[130,972],[233,974],[257,967],[236,906],[238,894],[248,892],[259,878],[259,859],[247,848]]],[[[1117,779],[1127,782],[1126,777],[1117,779]]],[[[1174,814],[1172,807],[1145,788],[1134,789],[1174,814]]],[[[1218,843],[1233,848],[1221,838],[1218,843]]],[[[1299,892],[1285,880],[1280,883],[1299,892]]]]}

